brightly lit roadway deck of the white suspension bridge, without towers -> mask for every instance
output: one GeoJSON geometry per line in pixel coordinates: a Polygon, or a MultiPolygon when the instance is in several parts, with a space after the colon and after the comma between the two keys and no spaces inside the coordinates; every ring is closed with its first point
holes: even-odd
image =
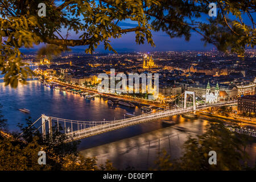
{"type": "MultiPolygon", "coordinates": [[[[205,109],[207,107],[235,105],[235,104],[237,104],[237,100],[221,102],[217,104],[200,105],[196,107],[196,110],[205,109]]],[[[87,127],[85,129],[66,133],[68,137],[68,140],[66,142],[69,142],[71,140],[79,140],[82,138],[98,135],[98,134],[105,133],[112,130],[121,129],[127,126],[137,125],[143,122],[154,121],[156,119],[170,117],[172,115],[188,113],[190,111],[195,111],[193,110],[193,106],[187,107],[186,109],[179,108],[179,109],[173,109],[173,110],[163,110],[157,113],[150,113],[150,114],[146,113],[146,114],[138,115],[137,117],[127,118],[127,119],[121,119],[116,121],[106,121],[104,122],[104,124],[101,124],[101,125],[87,127]]],[[[57,119],[57,118],[52,117],[52,119],[57,119]]]]}

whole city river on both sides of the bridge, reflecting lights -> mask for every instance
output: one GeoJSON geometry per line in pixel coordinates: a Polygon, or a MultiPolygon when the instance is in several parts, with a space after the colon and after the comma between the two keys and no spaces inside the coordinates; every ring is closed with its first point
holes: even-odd
{"type": "MultiPolygon", "coordinates": [[[[108,121],[122,119],[126,113],[142,113],[138,107],[110,107],[101,98],[86,100],[77,94],[43,86],[39,81],[28,81],[27,85],[19,84],[16,89],[0,83],[0,93],[0,103],[10,131],[17,131],[17,123],[26,123],[29,116],[35,120],[41,114],[82,121],[108,121]],[[31,113],[21,113],[18,109],[22,108],[30,110],[31,113]]],[[[154,167],[154,160],[163,149],[171,154],[172,159],[181,156],[181,148],[187,136],[201,134],[208,123],[204,119],[186,119],[181,116],[166,119],[176,121],[177,125],[166,125],[159,120],[126,127],[82,139],[79,150],[84,156],[96,156],[98,164],[109,159],[118,169],[129,166],[148,169],[154,167]]],[[[246,150],[253,164],[256,144],[250,144],[246,150]]]]}

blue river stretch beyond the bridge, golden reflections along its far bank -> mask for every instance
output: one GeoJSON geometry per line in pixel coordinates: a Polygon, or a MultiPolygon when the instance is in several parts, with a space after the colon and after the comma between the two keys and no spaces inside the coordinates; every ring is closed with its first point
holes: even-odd
{"type": "Polygon", "coordinates": [[[0,93],[0,103],[10,130],[16,130],[16,124],[24,123],[28,116],[38,119],[41,114],[81,121],[108,121],[114,118],[123,119],[126,113],[141,114],[138,107],[110,107],[107,101],[100,98],[86,100],[79,94],[43,86],[39,81],[28,81],[27,85],[19,84],[16,89],[0,83],[0,93]],[[21,113],[18,110],[21,108],[30,110],[31,114],[21,113]]]}

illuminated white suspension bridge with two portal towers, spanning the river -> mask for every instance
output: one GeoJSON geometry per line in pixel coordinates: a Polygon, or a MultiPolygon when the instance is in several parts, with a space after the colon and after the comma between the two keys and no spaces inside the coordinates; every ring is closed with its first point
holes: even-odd
{"type": "MultiPolygon", "coordinates": [[[[52,134],[52,123],[54,122],[57,125],[58,131],[60,130],[60,127],[64,128],[63,133],[68,138],[66,142],[69,142],[71,140],[79,140],[93,135],[106,133],[108,131],[121,129],[123,127],[138,125],[139,123],[170,117],[172,115],[206,109],[207,107],[220,107],[236,104],[237,100],[206,104],[205,98],[196,96],[195,92],[185,91],[185,93],[181,94],[175,99],[174,102],[172,102],[171,107],[169,106],[166,109],[162,110],[159,108],[142,115],[134,116],[132,118],[119,119],[114,121],[105,121],[105,119],[104,121],[76,121],[72,119],[63,119],[42,114],[41,117],[38,118],[34,123],[32,123],[31,126],[35,125],[35,123],[37,123],[41,119],[42,125],[39,126],[35,131],[39,130],[42,127],[43,137],[46,137],[47,129],[48,134],[52,134]]],[[[30,128],[31,126],[29,126],[28,128],[30,128]]]]}

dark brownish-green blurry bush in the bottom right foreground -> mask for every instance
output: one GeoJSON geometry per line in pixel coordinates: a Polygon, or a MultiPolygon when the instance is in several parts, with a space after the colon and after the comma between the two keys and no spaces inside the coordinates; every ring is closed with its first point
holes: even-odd
{"type": "Polygon", "coordinates": [[[232,133],[223,123],[210,123],[207,131],[193,138],[188,137],[184,143],[184,154],[177,160],[170,160],[166,151],[160,153],[156,160],[158,170],[243,170],[247,167],[249,155],[245,152],[248,138],[232,133]],[[209,151],[216,151],[217,164],[210,165],[209,151]]]}

